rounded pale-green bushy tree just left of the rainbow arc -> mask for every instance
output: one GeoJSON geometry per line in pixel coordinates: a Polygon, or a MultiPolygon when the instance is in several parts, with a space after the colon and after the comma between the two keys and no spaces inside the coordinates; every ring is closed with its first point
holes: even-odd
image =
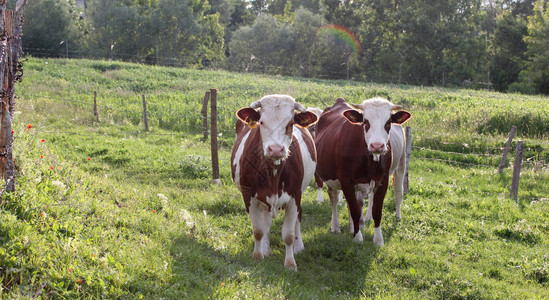
{"type": "MultiPolygon", "coordinates": [[[[288,14],[288,12],[286,12],[288,14]]],[[[323,47],[318,38],[322,15],[306,8],[283,16],[260,14],[252,26],[235,31],[226,60],[235,71],[313,77],[324,74],[326,55],[332,47],[323,47]]]]}

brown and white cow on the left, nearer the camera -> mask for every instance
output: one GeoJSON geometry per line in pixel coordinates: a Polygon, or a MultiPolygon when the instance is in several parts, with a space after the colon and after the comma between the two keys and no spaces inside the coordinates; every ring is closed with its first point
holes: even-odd
{"type": "Polygon", "coordinates": [[[272,219],[284,208],[284,266],[297,270],[294,253],[303,250],[301,194],[316,168],[314,141],[305,127],[317,116],[287,95],[265,96],[236,115],[232,176],[252,221],[253,256],[261,260],[270,254],[272,219]]]}

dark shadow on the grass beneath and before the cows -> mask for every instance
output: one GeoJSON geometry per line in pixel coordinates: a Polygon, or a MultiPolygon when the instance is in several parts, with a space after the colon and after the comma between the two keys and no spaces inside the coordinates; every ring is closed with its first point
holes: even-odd
{"type": "MultiPolygon", "coordinates": [[[[245,209],[236,205],[220,206],[213,203],[212,213],[238,214],[245,209]]],[[[373,224],[367,224],[364,242],[353,242],[352,234],[342,226],[341,234],[330,232],[330,205],[305,202],[302,235],[305,250],[296,255],[298,271],[284,269],[285,246],[281,238],[284,214],[273,220],[271,228],[271,256],[254,261],[251,225],[245,230],[250,235],[244,245],[217,249],[215,241],[183,234],[173,240],[170,253],[173,258],[173,278],[166,289],[170,297],[244,297],[252,298],[333,298],[359,297],[363,294],[364,280],[380,248],[372,243],[373,224]],[[233,249],[233,250],[228,250],[233,249]],[[239,249],[239,250],[234,250],[239,249]]],[[[386,212],[390,214],[391,212],[386,212]]],[[[247,218],[247,215],[246,215],[247,218]]],[[[387,216],[385,222],[392,218],[387,216]]],[[[347,222],[343,221],[342,225],[347,222]]],[[[383,223],[382,223],[383,226],[383,223]]],[[[386,224],[385,243],[390,243],[398,222],[386,224]]],[[[237,229],[235,229],[237,230],[237,229]]],[[[241,229],[242,230],[242,229],[241,229]]],[[[242,243],[233,239],[230,243],[242,243]]]]}

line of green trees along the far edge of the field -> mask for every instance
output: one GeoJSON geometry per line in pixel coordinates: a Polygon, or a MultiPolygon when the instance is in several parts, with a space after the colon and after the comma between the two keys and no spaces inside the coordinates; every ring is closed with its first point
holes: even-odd
{"type": "Polygon", "coordinates": [[[549,94],[548,2],[29,1],[23,49],[33,56],[549,94]],[[354,34],[361,51],[319,30],[327,24],[354,34]]]}

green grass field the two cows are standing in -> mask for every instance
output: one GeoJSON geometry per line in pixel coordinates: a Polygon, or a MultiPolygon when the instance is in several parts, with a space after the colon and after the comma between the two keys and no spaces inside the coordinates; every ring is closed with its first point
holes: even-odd
{"type": "Polygon", "coordinates": [[[16,192],[0,200],[2,299],[549,298],[547,97],[33,58],[16,92],[16,192]],[[211,184],[202,137],[210,88],[219,90],[221,186],[211,184]],[[390,96],[412,113],[410,193],[397,221],[389,189],[384,247],[373,245],[372,224],[363,244],[330,233],[329,201],[317,203],[311,187],[298,272],[283,266],[282,216],[272,255],[253,260],[230,176],[234,112],[273,93],[321,108],[390,96]],[[513,153],[497,173],[512,125],[513,146],[525,143],[516,201],[513,153]]]}

